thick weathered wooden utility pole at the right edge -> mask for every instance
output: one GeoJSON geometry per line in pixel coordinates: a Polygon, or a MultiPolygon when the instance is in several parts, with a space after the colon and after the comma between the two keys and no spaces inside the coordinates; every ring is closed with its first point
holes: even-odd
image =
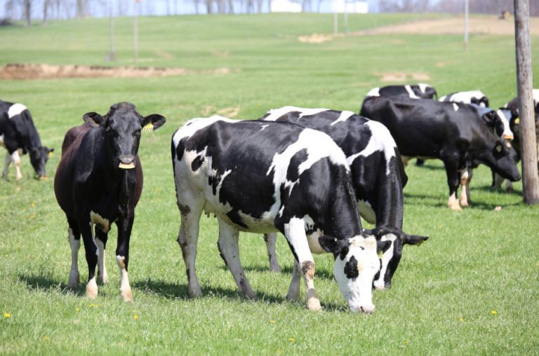
{"type": "Polygon", "coordinates": [[[519,93],[519,134],[522,158],[522,195],[524,203],[539,203],[538,148],[533,111],[531,71],[530,9],[528,0],[514,0],[514,34],[517,48],[517,85],[519,93]]]}

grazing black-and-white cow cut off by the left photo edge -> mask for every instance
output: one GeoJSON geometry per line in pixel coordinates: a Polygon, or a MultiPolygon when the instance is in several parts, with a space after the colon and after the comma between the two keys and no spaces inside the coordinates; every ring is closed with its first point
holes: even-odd
{"type": "Polygon", "coordinates": [[[8,167],[13,162],[15,179],[21,179],[20,156],[28,153],[36,174],[46,179],[45,164],[54,149],[41,144],[32,115],[24,105],[0,100],[0,146],[8,150],[2,178],[8,176],[8,167]]]}

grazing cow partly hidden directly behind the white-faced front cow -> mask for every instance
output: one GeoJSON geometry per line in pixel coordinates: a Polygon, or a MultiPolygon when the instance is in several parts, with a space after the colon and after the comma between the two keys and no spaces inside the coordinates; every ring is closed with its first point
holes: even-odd
{"type": "MultiPolygon", "coordinates": [[[[342,149],[352,172],[359,214],[369,223],[376,224],[373,232],[378,240],[392,242],[382,256],[382,267],[375,277],[374,287],[391,287],[402,247],[405,244],[419,245],[427,237],[402,231],[402,189],[408,177],[399,149],[387,128],[352,111],[299,107],[271,110],[261,120],[286,121],[319,130],[329,135],[342,149]]],[[[275,233],[265,235],[270,266],[274,271],[279,268],[275,240],[275,233]]]]}

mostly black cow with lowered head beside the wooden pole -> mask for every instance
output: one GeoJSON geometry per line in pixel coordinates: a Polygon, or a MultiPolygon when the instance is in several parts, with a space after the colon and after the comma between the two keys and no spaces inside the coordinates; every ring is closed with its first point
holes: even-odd
{"type": "Polygon", "coordinates": [[[383,123],[402,156],[439,158],[444,162],[448,206],[453,210],[468,205],[467,188],[460,192],[460,205],[456,198],[460,183],[468,183],[468,177],[462,174],[467,167],[483,163],[507,179],[520,179],[514,149],[506,146],[470,105],[372,97],[363,102],[361,115],[383,123]]]}

